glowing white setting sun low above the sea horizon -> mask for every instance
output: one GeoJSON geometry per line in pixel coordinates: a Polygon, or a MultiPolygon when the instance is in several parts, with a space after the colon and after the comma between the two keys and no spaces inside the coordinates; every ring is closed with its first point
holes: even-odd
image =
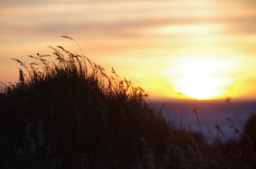
{"type": "Polygon", "coordinates": [[[161,75],[175,93],[193,99],[213,99],[228,93],[234,85],[234,74],[241,66],[239,61],[208,53],[197,53],[177,58],[162,69],[161,75]]]}

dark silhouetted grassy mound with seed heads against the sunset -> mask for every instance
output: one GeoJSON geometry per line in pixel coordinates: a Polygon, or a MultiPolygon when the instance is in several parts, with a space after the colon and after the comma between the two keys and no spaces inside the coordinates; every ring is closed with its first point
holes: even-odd
{"type": "Polygon", "coordinates": [[[3,168],[254,167],[249,143],[223,145],[216,138],[205,144],[202,133],[175,126],[162,110],[150,108],[131,79],[113,68],[107,76],[103,67],[62,46],[52,50],[53,56],[29,56],[36,60],[29,65],[14,59],[21,65],[19,82],[1,90],[3,168]]]}

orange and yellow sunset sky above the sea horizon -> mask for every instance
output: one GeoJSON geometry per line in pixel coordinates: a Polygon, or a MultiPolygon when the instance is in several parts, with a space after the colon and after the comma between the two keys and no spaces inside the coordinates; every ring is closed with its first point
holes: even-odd
{"type": "Polygon", "coordinates": [[[49,45],[81,55],[61,36],[152,99],[256,100],[255,0],[0,0],[0,81],[49,45]]]}

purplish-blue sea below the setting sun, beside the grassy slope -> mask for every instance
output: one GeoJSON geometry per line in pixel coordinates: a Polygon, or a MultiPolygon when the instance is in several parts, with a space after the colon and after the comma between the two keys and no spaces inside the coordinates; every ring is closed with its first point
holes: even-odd
{"type": "Polygon", "coordinates": [[[256,101],[165,100],[150,101],[150,107],[156,111],[162,108],[163,116],[166,120],[171,120],[176,127],[182,125],[185,129],[191,129],[198,134],[201,127],[205,140],[209,144],[217,137],[223,143],[235,139],[238,141],[243,137],[248,120],[256,116],[256,101]],[[175,108],[180,112],[180,116],[175,108]],[[198,120],[194,109],[198,111],[198,120]],[[190,129],[189,126],[191,126],[190,129]]]}

